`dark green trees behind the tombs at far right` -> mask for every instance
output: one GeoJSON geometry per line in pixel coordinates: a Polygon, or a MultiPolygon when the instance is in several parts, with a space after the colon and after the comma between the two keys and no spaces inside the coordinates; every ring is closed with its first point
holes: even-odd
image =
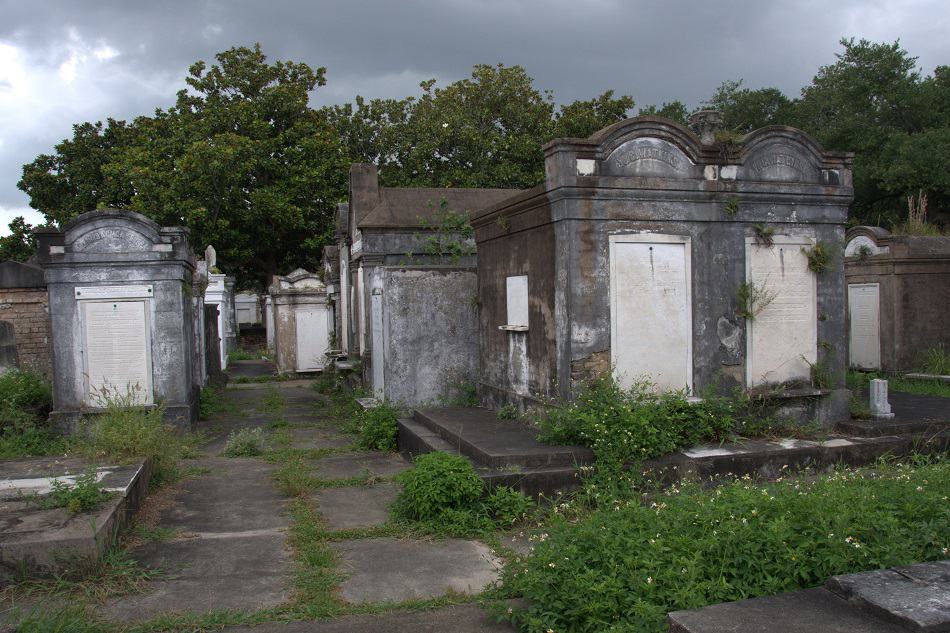
{"type": "Polygon", "coordinates": [[[724,124],[739,132],[791,125],[827,149],[854,152],[852,222],[901,224],[908,195],[926,196],[931,218],[945,214],[950,71],[940,66],[922,76],[900,42],[843,39],[841,46],[835,63],[819,68],[797,99],[732,80],[704,106],[720,110],[724,124]]]}

